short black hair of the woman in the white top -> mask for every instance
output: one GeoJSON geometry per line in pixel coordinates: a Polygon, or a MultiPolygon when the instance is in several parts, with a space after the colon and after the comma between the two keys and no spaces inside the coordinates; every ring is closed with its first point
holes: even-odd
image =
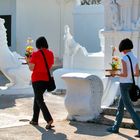
{"type": "Polygon", "coordinates": [[[122,52],[124,50],[133,49],[133,43],[130,39],[126,38],[120,42],[119,51],[122,52]]]}

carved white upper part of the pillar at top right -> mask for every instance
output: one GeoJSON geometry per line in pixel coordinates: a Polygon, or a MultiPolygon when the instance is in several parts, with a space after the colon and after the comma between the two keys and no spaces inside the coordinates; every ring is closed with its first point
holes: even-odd
{"type": "Polygon", "coordinates": [[[139,30],[139,0],[102,0],[102,3],[105,9],[106,31],[139,30]]]}

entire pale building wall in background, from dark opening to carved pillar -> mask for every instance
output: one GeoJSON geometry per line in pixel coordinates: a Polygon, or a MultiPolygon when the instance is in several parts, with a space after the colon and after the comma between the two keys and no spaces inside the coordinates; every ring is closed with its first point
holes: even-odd
{"type": "Polygon", "coordinates": [[[61,59],[64,26],[69,25],[76,41],[89,52],[100,50],[98,30],[103,25],[102,8],[75,6],[76,0],[1,0],[0,14],[12,14],[10,49],[24,55],[27,38],[31,36],[35,41],[44,35],[55,57],[61,59]]]}

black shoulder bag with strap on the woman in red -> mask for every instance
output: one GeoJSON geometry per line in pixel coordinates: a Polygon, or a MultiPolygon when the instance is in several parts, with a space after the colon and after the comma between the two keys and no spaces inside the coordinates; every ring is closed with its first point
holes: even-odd
{"type": "Polygon", "coordinates": [[[51,92],[51,91],[56,89],[55,81],[54,81],[53,76],[51,76],[51,74],[50,74],[48,63],[46,61],[44,52],[42,50],[40,50],[40,52],[43,55],[43,58],[44,58],[44,61],[45,61],[45,65],[46,65],[46,69],[47,69],[48,76],[49,76],[49,81],[47,81],[47,83],[46,83],[46,89],[47,89],[48,92],[51,92]]]}

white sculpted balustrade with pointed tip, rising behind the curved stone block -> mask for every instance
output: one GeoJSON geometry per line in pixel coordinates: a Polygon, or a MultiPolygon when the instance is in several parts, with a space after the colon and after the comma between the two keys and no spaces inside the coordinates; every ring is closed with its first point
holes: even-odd
{"type": "Polygon", "coordinates": [[[85,47],[82,47],[74,40],[68,25],[65,26],[64,46],[63,68],[84,71],[104,68],[104,53],[102,51],[88,53],[85,47]]]}

